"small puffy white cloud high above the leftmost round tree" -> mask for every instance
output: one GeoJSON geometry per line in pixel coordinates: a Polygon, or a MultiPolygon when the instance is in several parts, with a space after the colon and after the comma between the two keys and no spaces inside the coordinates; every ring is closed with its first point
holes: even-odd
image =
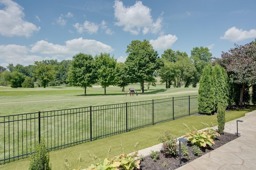
{"type": "Polygon", "coordinates": [[[99,25],[96,23],[91,23],[90,21],[84,21],[83,24],[76,23],[73,25],[78,33],[87,32],[89,34],[97,33],[99,25]]]}

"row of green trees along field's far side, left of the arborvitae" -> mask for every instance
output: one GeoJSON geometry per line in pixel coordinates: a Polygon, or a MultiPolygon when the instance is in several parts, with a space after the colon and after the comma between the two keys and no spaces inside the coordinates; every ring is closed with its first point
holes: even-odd
{"type": "Polygon", "coordinates": [[[202,69],[211,61],[212,53],[206,47],[195,47],[191,51],[191,57],[186,52],[167,49],[158,56],[149,41],[134,40],[126,50],[127,58],[124,63],[117,63],[114,56],[109,53],[101,53],[92,56],[79,53],[72,60],[43,60],[35,61],[33,65],[22,66],[9,64],[6,68],[1,67],[4,72],[0,74],[0,86],[11,86],[14,88],[33,88],[34,82],[38,86],[57,86],[66,84],[84,88],[92,87],[98,83],[104,88],[111,85],[124,87],[131,83],[140,83],[144,93],[145,83],[155,86],[154,77],[160,77],[161,83],[166,88],[185,87],[199,82],[202,69]]]}

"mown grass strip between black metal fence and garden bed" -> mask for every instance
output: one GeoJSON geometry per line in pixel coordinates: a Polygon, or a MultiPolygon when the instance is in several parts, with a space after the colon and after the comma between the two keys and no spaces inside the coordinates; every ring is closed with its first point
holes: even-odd
{"type": "MultiPolygon", "coordinates": [[[[226,122],[243,117],[245,113],[255,109],[256,107],[249,107],[248,109],[228,111],[226,112],[226,122]]],[[[80,162],[79,166],[81,166],[81,169],[83,169],[94,163],[94,161],[88,156],[88,151],[103,160],[107,156],[110,146],[110,157],[122,153],[122,149],[120,147],[120,141],[122,141],[124,145],[124,152],[128,154],[134,151],[134,145],[136,142],[139,143],[137,150],[145,149],[160,143],[158,141],[158,136],[160,136],[164,131],[170,131],[172,135],[177,137],[185,135],[185,133],[188,132],[188,129],[183,126],[183,123],[188,125],[188,127],[194,126],[196,129],[205,128],[204,125],[202,125],[200,122],[207,123],[210,126],[212,123],[214,125],[218,125],[216,115],[191,115],[181,119],[176,119],[174,121],[169,121],[166,123],[130,131],[128,133],[122,133],[104,139],[98,139],[96,141],[76,145],[74,147],[52,151],[50,152],[50,163],[52,164],[52,170],[65,169],[65,155],[68,158],[69,164],[71,164],[71,169],[74,169],[79,168],[77,159],[81,154],[82,162],[80,162]]],[[[96,160],[96,162],[98,161],[96,160]]],[[[24,160],[18,160],[16,162],[0,165],[0,169],[27,170],[29,163],[30,160],[27,158],[24,160]]]]}

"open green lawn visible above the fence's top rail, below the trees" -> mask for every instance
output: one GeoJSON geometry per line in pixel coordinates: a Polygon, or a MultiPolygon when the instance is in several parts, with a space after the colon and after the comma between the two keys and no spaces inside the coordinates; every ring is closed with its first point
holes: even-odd
{"type": "Polygon", "coordinates": [[[84,89],[70,86],[48,88],[0,87],[0,116],[198,94],[198,88],[166,89],[164,85],[150,86],[150,90],[145,90],[144,94],[141,93],[139,85],[130,85],[125,88],[125,92],[129,91],[129,87],[135,88],[138,96],[136,94],[131,97],[129,94],[125,96],[121,88],[112,86],[106,88],[106,96],[104,95],[104,89],[99,86],[88,88],[87,96],[84,96],[84,89]]]}

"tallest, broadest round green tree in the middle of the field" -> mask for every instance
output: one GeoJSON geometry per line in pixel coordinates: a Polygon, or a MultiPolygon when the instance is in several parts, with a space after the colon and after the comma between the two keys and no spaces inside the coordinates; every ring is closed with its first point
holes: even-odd
{"type": "Polygon", "coordinates": [[[154,72],[162,66],[158,53],[154,51],[149,41],[134,40],[126,50],[128,55],[124,62],[128,66],[128,75],[131,83],[139,82],[144,93],[144,82],[152,81],[154,72]]]}

